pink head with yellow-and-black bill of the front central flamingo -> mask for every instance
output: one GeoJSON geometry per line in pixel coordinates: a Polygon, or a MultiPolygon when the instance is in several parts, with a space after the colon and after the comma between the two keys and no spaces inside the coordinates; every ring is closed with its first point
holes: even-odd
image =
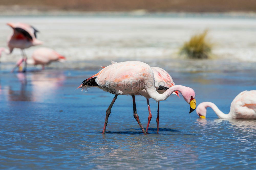
{"type": "Polygon", "coordinates": [[[184,100],[190,105],[189,113],[193,112],[196,109],[195,91],[189,87],[186,87],[186,89],[182,90],[182,95],[184,100]]]}

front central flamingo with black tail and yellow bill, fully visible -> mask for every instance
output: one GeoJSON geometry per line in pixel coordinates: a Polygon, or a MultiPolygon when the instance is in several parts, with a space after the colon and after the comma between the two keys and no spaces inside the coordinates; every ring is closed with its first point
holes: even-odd
{"type": "Polygon", "coordinates": [[[106,110],[106,118],[102,134],[106,131],[108,117],[118,95],[132,95],[133,117],[145,135],[146,131],[138,117],[135,103],[135,95],[141,90],[145,89],[150,98],[157,102],[166,100],[173,92],[179,91],[182,93],[184,100],[190,104],[190,113],[196,108],[195,92],[193,89],[175,85],[167,89],[163,94],[159,94],[155,88],[154,72],[152,68],[148,64],[139,61],[127,61],[121,63],[112,62],[112,65],[104,67],[97,74],[84,80],[78,88],[82,88],[83,90],[87,87],[98,87],[103,91],[115,94],[114,99],[106,110]]]}

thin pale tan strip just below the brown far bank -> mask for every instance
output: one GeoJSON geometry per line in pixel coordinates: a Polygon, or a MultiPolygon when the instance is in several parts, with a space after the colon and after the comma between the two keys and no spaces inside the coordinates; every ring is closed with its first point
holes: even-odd
{"type": "MultiPolygon", "coordinates": [[[[166,17],[249,17],[256,18],[255,11],[230,11],[230,12],[148,12],[145,9],[138,9],[133,11],[76,11],[76,10],[57,10],[46,6],[4,6],[0,5],[0,15],[2,16],[166,16],[166,17]]],[[[1,16],[0,16],[1,17],[1,16]]]]}

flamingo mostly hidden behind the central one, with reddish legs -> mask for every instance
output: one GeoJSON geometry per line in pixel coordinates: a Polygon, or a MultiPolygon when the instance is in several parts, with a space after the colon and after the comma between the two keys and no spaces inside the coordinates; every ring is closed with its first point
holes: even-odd
{"type": "MultiPolygon", "coordinates": [[[[167,71],[160,67],[151,67],[153,72],[154,72],[154,77],[155,77],[155,87],[156,91],[160,94],[164,93],[167,89],[170,87],[174,86],[175,83],[173,82],[172,77],[168,74],[167,71]]],[[[147,128],[146,132],[148,130],[148,126],[150,124],[152,115],[151,115],[151,110],[150,110],[150,105],[149,105],[149,100],[150,95],[147,93],[145,89],[141,90],[138,92],[142,96],[144,96],[147,99],[147,107],[148,107],[148,123],[147,123],[147,128]]],[[[175,91],[173,94],[176,94],[179,97],[179,92],[175,91]]],[[[157,124],[157,132],[159,131],[159,102],[158,101],[158,106],[157,106],[157,118],[156,118],[156,124],[157,124]]]]}

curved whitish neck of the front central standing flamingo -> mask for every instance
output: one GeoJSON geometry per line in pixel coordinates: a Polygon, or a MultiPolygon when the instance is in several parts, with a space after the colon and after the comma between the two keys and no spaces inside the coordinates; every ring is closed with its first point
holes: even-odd
{"type": "MultiPolygon", "coordinates": [[[[149,96],[154,99],[155,101],[162,101],[166,100],[174,91],[179,91],[181,94],[186,90],[186,86],[181,86],[181,85],[175,85],[167,89],[163,94],[159,94],[156,91],[156,88],[145,88],[149,96]]],[[[187,101],[189,102],[189,101],[187,101]]]]}

